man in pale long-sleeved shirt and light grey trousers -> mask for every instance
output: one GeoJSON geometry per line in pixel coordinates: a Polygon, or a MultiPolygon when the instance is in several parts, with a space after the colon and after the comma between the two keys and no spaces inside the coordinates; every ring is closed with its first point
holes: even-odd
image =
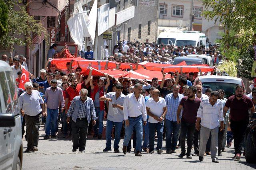
{"type": "Polygon", "coordinates": [[[196,130],[200,130],[200,161],[204,160],[206,143],[211,133],[211,158],[212,162],[218,163],[216,154],[218,151],[219,126],[220,131],[224,129],[223,106],[222,101],[218,99],[219,95],[219,92],[213,91],[209,98],[202,100],[197,111],[196,130]]]}

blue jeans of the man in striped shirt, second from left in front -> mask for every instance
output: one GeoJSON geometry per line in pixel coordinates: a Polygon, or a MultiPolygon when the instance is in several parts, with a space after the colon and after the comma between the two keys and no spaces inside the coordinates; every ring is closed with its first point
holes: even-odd
{"type": "Polygon", "coordinates": [[[45,123],[45,134],[55,135],[58,128],[58,111],[59,109],[49,109],[47,108],[47,117],[45,123]]]}

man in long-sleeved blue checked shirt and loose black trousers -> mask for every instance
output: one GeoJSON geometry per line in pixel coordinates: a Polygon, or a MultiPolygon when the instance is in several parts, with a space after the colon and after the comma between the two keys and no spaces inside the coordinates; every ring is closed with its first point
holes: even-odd
{"type": "Polygon", "coordinates": [[[96,113],[93,100],[87,97],[88,90],[82,88],[80,96],[74,97],[67,113],[67,123],[70,123],[72,117],[72,142],[73,152],[79,148],[80,152],[84,152],[88,125],[92,117],[92,125],[96,125],[96,113]]]}

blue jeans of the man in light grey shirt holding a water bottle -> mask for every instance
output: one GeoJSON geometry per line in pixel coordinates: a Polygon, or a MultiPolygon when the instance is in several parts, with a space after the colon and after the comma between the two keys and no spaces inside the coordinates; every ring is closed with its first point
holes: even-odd
{"type": "Polygon", "coordinates": [[[112,128],[115,125],[115,141],[114,141],[114,149],[119,148],[120,142],[120,134],[123,122],[114,122],[107,120],[107,127],[106,127],[106,148],[111,149],[111,137],[112,137],[112,128]]]}

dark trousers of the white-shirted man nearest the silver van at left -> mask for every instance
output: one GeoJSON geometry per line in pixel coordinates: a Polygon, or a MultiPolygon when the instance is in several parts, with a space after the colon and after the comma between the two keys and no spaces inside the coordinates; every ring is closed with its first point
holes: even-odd
{"type": "Polygon", "coordinates": [[[28,148],[33,148],[38,146],[39,140],[39,128],[42,123],[41,113],[36,116],[25,116],[26,121],[26,135],[28,141],[28,148]]]}

